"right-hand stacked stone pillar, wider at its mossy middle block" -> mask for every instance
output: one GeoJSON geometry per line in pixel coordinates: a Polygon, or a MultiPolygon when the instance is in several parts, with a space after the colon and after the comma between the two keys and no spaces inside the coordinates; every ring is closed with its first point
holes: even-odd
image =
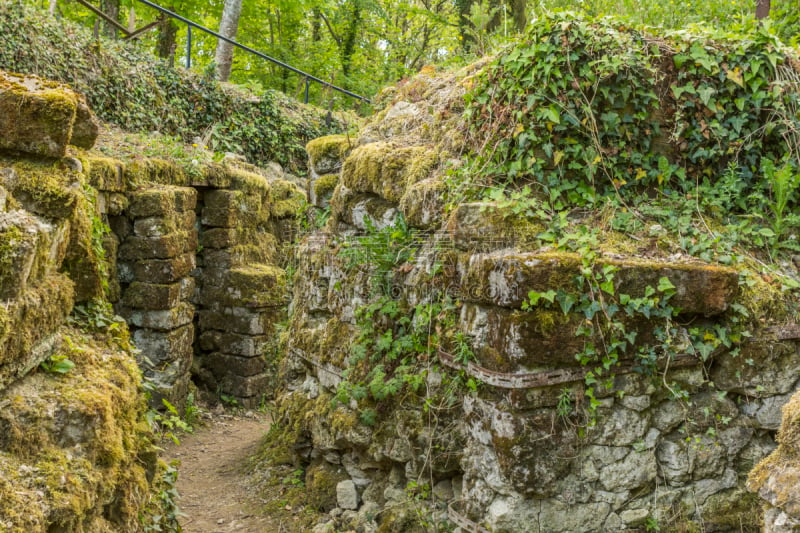
{"type": "Polygon", "coordinates": [[[240,404],[256,406],[269,386],[265,351],[283,317],[285,272],[274,266],[266,182],[247,191],[203,195],[199,291],[201,379],[240,404]]]}

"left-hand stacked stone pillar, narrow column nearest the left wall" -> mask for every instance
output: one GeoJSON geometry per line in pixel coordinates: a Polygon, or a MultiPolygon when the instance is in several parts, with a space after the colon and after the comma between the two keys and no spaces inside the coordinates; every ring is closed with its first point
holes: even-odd
{"type": "Polygon", "coordinates": [[[157,187],[129,195],[127,217],[117,220],[121,237],[120,312],[141,350],[139,364],[152,385],[151,403],[180,405],[186,397],[193,357],[197,191],[157,187]]]}

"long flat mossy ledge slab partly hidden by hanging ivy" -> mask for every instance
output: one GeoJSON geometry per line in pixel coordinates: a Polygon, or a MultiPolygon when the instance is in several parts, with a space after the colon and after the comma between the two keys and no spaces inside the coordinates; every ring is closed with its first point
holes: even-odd
{"type": "MultiPolygon", "coordinates": [[[[669,278],[676,287],[670,304],[682,312],[717,315],[724,312],[738,294],[739,274],[735,269],[703,263],[670,263],[600,257],[596,268],[618,269],[614,281],[617,294],[641,297],[647,287],[669,278]]],[[[464,265],[464,299],[503,307],[519,307],[529,291],[574,290],[573,278],[581,258],[573,253],[476,254],[464,265]]]]}

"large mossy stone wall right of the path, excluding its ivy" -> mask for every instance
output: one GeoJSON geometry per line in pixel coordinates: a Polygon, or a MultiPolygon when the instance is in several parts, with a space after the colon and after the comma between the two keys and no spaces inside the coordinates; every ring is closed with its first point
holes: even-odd
{"type": "MultiPolygon", "coordinates": [[[[310,187],[337,185],[330,199],[313,197],[330,205],[331,217],[296,252],[278,405],[295,461],[344,479],[326,500],[338,495],[336,527],[424,529],[415,519],[421,512],[429,525],[476,531],[758,530],[760,503],[745,481],[775,449],[780,407],[800,385],[794,329],[762,324],[738,355],[678,358],[654,377],[623,360],[610,388],[595,392],[596,422],[587,423],[590,369],[574,358],[585,342],[576,337],[580,323],[524,307],[529,291],[572,283],[580,257],[526,248],[541,229],[499,215],[497,204],[466,203],[445,214],[438,162],[447,152],[437,152],[435,133],[392,142],[393,124],[426,123],[424,113],[395,103],[360,139],[308,147],[310,187]],[[476,359],[461,365],[440,353],[417,361],[427,394],[381,404],[370,427],[359,421],[357,402],[335,398],[351,366],[359,310],[381,296],[373,284],[381,273],[353,266],[342,250],[395,227],[400,213],[425,233],[414,260],[394,272],[390,298],[413,309],[451,296],[451,334],[461,332],[476,359]],[[451,390],[457,404],[434,410],[453,373],[481,385],[451,390]]],[[[596,265],[614,267],[619,290],[633,295],[668,278],[682,324],[723,325],[732,304],[759,298],[739,286],[738,271],[696,260],[610,253],[596,265]]],[[[656,326],[643,319],[632,327],[647,339],[656,326]]],[[[307,476],[308,484],[314,476],[307,476]]]]}

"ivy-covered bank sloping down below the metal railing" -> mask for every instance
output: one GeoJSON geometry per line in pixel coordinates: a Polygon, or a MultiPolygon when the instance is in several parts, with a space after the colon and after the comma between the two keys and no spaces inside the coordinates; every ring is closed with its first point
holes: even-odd
{"type": "Polygon", "coordinates": [[[155,61],[136,44],[94,40],[91,32],[16,2],[0,3],[0,69],[63,81],[86,95],[103,120],[130,131],[159,131],[251,162],[305,168],[305,144],[339,131],[321,110],[274,91],[252,94],[155,61]],[[37,28],[37,31],[30,31],[37,28]]]}

